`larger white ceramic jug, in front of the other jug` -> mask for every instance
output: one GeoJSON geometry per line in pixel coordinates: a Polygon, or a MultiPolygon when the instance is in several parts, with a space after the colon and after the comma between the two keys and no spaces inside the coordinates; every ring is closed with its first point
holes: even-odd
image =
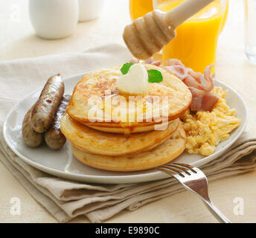
{"type": "Polygon", "coordinates": [[[77,0],[30,0],[29,13],[36,34],[46,39],[70,36],[77,27],[77,0]]]}

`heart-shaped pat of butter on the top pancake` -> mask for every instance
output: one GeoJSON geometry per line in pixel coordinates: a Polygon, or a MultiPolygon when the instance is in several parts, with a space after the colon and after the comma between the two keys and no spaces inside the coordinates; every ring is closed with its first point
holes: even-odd
{"type": "Polygon", "coordinates": [[[127,74],[118,78],[117,87],[123,95],[147,95],[148,74],[144,65],[132,65],[127,74]]]}

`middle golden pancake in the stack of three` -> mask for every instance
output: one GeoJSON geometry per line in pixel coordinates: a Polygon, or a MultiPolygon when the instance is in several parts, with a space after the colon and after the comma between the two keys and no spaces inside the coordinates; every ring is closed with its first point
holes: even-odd
{"type": "Polygon", "coordinates": [[[178,126],[179,119],[176,119],[167,129],[136,133],[127,138],[121,134],[90,129],[68,114],[60,122],[61,131],[71,144],[89,153],[109,156],[129,155],[153,149],[166,141],[178,126]]]}

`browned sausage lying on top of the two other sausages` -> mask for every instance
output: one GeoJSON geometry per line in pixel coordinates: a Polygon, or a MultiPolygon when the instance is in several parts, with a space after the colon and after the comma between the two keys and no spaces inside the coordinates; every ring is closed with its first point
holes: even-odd
{"type": "Polygon", "coordinates": [[[64,83],[60,74],[50,77],[32,111],[31,123],[36,132],[46,132],[51,126],[63,93],[64,83]]]}

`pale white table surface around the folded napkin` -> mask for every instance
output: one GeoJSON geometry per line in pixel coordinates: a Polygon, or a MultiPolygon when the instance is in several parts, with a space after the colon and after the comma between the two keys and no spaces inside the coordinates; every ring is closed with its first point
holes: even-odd
{"type": "MultiPolygon", "coordinates": [[[[0,60],[37,57],[46,54],[80,52],[109,42],[124,44],[122,30],[130,22],[127,0],[106,0],[99,19],[77,25],[76,33],[66,39],[45,40],[33,33],[28,0],[0,1],[0,60]]],[[[256,66],[243,55],[243,1],[230,1],[228,22],[220,36],[216,77],[231,85],[249,107],[247,130],[256,134],[256,66]]],[[[0,82],[1,88],[1,82],[0,82]]],[[[256,222],[256,171],[212,181],[211,199],[232,222],[256,222]],[[234,213],[234,199],[242,198],[244,214],[234,213]]],[[[0,163],[0,222],[57,222],[0,163]],[[10,214],[10,199],[21,199],[21,214],[10,214]]],[[[89,222],[79,216],[71,222],[89,222]]],[[[183,192],[145,205],[138,210],[122,211],[106,222],[216,222],[202,202],[183,192]]]]}

